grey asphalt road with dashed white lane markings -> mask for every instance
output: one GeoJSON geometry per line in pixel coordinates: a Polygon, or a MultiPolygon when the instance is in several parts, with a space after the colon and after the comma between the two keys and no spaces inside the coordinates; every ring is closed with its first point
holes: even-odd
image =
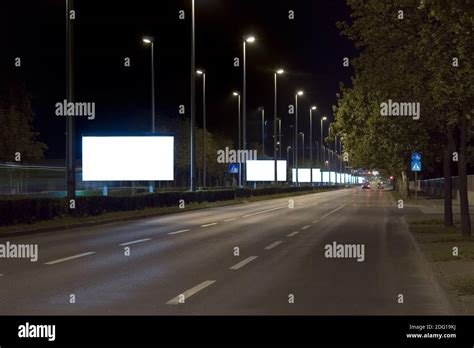
{"type": "Polygon", "coordinates": [[[7,241],[38,244],[39,259],[0,259],[0,314],[451,312],[388,191],[357,187],[7,241]],[[363,245],[363,261],[326,257],[333,242],[363,245]]]}

